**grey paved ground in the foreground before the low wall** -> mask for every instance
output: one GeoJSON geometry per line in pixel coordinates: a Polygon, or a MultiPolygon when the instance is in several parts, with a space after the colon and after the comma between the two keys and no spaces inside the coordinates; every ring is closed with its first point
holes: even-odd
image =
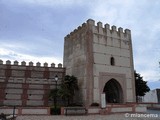
{"type": "Polygon", "coordinates": [[[16,120],[160,120],[160,110],[147,110],[147,113],[123,113],[111,115],[84,115],[84,116],[18,116],[16,120]]]}

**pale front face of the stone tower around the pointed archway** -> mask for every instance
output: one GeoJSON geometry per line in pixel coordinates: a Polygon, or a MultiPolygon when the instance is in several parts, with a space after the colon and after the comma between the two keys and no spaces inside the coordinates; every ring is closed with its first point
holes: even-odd
{"type": "MultiPolygon", "coordinates": [[[[103,92],[104,85],[111,78],[116,80],[123,87],[124,102],[135,101],[135,86],[134,86],[134,66],[131,31],[129,29],[116,28],[109,24],[101,22],[95,25],[92,24],[93,31],[93,56],[94,56],[94,102],[100,102],[100,95],[103,92]],[[111,57],[114,58],[115,65],[111,65],[111,57]],[[112,77],[103,80],[100,78],[100,73],[106,73],[112,77]],[[124,75],[125,77],[117,77],[124,75]],[[103,84],[102,84],[103,83],[103,84]],[[100,92],[99,92],[100,91],[100,92]]],[[[104,74],[103,74],[104,75],[104,74]]]]}

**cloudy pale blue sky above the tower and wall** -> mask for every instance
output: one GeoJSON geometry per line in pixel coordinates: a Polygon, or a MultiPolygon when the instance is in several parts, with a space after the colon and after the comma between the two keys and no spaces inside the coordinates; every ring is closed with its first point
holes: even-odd
{"type": "Polygon", "coordinates": [[[0,59],[62,63],[64,37],[91,18],[132,31],[135,70],[158,88],[159,6],[159,0],[0,0],[0,59]]]}

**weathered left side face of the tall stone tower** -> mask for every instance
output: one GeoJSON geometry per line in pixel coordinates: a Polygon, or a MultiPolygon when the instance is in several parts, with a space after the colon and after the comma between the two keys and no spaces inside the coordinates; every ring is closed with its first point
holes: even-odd
{"type": "Polygon", "coordinates": [[[80,86],[80,92],[76,94],[76,100],[78,103],[85,103],[86,101],[86,24],[78,27],[74,32],[65,37],[64,44],[64,60],[63,64],[66,68],[66,74],[74,75],[78,78],[78,84],[80,86]]]}

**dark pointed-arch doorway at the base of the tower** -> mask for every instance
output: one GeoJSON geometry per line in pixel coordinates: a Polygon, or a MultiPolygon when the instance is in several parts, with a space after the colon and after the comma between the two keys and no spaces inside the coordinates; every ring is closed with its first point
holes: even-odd
{"type": "Polygon", "coordinates": [[[103,89],[106,94],[106,103],[122,103],[123,102],[123,92],[121,85],[115,79],[109,80],[103,89]]]}

